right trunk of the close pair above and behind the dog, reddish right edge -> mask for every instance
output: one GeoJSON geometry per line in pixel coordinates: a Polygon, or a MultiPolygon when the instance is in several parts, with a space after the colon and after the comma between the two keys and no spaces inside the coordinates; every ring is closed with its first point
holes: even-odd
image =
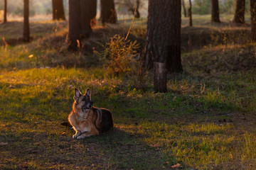
{"type": "Polygon", "coordinates": [[[95,23],[97,0],[80,0],[80,33],[88,38],[92,33],[91,25],[95,23]]]}

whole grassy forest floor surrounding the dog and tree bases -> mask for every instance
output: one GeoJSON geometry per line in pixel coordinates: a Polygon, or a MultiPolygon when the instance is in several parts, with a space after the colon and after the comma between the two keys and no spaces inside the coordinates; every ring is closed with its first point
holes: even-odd
{"type": "MultiPolygon", "coordinates": [[[[153,92],[151,71],[106,72],[111,38],[131,20],[96,26],[78,52],[67,50],[67,21],[32,22],[30,43],[23,23],[0,24],[0,169],[255,169],[256,45],[250,26],[221,20],[183,18],[184,72],[168,75],[165,94],[153,92]],[[112,111],[112,130],[73,140],[60,123],[74,87],[112,111]]],[[[137,56],[145,33],[146,19],[135,21],[137,56]]]]}

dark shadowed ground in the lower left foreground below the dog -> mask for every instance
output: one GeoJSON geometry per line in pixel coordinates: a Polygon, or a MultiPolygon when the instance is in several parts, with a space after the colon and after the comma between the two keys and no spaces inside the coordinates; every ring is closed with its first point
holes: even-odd
{"type": "MultiPolygon", "coordinates": [[[[22,127],[22,125],[21,125],[22,127]]],[[[18,128],[18,129],[21,129],[18,128]]],[[[168,158],[161,149],[150,147],[134,135],[112,128],[99,136],[73,140],[73,130],[19,132],[1,127],[0,165],[3,169],[162,169],[168,158]],[[61,133],[65,132],[65,133],[61,133]]]]}

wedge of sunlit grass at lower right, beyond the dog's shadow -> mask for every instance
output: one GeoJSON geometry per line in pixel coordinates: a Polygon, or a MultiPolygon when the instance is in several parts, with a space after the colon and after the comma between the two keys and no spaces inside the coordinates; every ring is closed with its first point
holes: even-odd
{"type": "Polygon", "coordinates": [[[255,157],[255,153],[249,151],[256,146],[252,142],[255,141],[252,135],[246,132],[240,139],[235,127],[229,123],[169,124],[144,120],[131,124],[127,120],[126,124],[116,124],[114,127],[137,136],[155,149],[164,149],[169,157],[176,157],[177,162],[182,161],[199,169],[202,168],[201,164],[205,164],[204,168],[209,164],[225,167],[224,164],[235,162],[240,157],[255,157]],[[238,143],[243,146],[242,150],[235,147],[238,143]]]}

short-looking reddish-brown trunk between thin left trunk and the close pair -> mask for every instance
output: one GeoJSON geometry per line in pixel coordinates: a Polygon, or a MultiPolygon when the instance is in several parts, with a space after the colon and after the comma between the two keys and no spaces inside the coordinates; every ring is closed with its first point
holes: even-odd
{"type": "Polygon", "coordinates": [[[52,0],[53,20],[65,20],[63,0],[52,0]]]}

